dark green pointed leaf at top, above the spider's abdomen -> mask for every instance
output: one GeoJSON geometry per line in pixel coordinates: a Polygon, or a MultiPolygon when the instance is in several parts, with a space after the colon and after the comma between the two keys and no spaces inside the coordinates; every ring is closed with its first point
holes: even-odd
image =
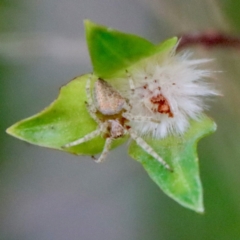
{"type": "Polygon", "coordinates": [[[101,78],[111,78],[125,71],[139,60],[165,51],[176,45],[171,38],[154,45],[136,35],[122,33],[112,28],[85,21],[88,49],[94,73],[101,78]]]}

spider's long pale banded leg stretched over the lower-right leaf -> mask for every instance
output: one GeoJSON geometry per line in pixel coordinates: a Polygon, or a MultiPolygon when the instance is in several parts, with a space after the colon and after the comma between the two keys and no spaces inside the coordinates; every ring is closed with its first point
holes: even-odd
{"type": "Polygon", "coordinates": [[[149,155],[154,157],[158,162],[160,162],[166,169],[169,171],[172,171],[170,166],[155,152],[155,150],[148,145],[141,137],[139,137],[133,130],[128,130],[131,138],[136,141],[136,143],[144,150],[146,151],[149,155]]]}

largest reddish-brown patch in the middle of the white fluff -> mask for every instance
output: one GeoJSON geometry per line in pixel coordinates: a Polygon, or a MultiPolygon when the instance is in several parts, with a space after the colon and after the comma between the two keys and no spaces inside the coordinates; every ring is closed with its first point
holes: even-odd
{"type": "Polygon", "coordinates": [[[151,97],[150,101],[154,105],[157,105],[156,107],[154,106],[152,109],[154,112],[168,114],[169,117],[173,117],[173,113],[171,111],[168,100],[162,94],[158,94],[157,96],[151,97]]]}

